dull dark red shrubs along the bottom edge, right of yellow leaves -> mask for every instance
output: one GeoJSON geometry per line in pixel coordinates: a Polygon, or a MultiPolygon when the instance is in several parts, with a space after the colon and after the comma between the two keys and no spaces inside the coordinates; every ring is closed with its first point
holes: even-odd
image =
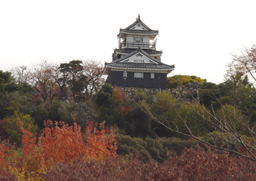
{"type": "Polygon", "coordinates": [[[117,156],[102,162],[58,164],[50,168],[46,180],[255,180],[256,164],[208,146],[186,148],[164,163],[143,163],[135,155],[117,156]]]}

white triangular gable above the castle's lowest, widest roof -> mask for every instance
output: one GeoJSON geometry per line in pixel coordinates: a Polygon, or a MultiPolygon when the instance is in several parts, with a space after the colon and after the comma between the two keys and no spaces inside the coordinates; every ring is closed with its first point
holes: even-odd
{"type": "Polygon", "coordinates": [[[131,57],[127,57],[126,59],[121,60],[120,62],[159,64],[159,62],[156,62],[155,60],[152,60],[150,57],[147,57],[146,55],[144,55],[140,52],[136,53],[135,55],[132,55],[131,57]]]}

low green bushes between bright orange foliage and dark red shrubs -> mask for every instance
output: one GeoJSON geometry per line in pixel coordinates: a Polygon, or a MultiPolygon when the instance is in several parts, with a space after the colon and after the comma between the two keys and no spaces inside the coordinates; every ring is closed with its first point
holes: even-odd
{"type": "Polygon", "coordinates": [[[191,148],[196,145],[196,141],[186,141],[180,138],[131,138],[117,134],[117,154],[129,155],[130,153],[139,155],[139,158],[148,163],[155,160],[159,163],[168,160],[175,155],[181,155],[184,148],[191,148]]]}

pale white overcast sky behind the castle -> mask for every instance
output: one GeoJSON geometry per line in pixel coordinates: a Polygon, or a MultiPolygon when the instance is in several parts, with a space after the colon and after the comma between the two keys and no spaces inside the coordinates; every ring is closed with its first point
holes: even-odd
{"type": "Polygon", "coordinates": [[[156,48],[174,75],[219,84],[230,54],[256,43],[255,9],[253,0],[0,0],[0,70],[43,59],[110,62],[119,28],[140,14],[159,30],[156,48]]]}

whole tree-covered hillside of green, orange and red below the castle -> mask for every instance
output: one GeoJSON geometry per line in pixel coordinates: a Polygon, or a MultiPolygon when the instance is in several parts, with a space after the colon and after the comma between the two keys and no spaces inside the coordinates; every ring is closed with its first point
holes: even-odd
{"type": "Polygon", "coordinates": [[[94,61],[0,70],[0,178],[253,180],[256,92],[238,57],[221,84],[168,77],[169,88],[199,83],[178,101],[124,97],[94,61]]]}

